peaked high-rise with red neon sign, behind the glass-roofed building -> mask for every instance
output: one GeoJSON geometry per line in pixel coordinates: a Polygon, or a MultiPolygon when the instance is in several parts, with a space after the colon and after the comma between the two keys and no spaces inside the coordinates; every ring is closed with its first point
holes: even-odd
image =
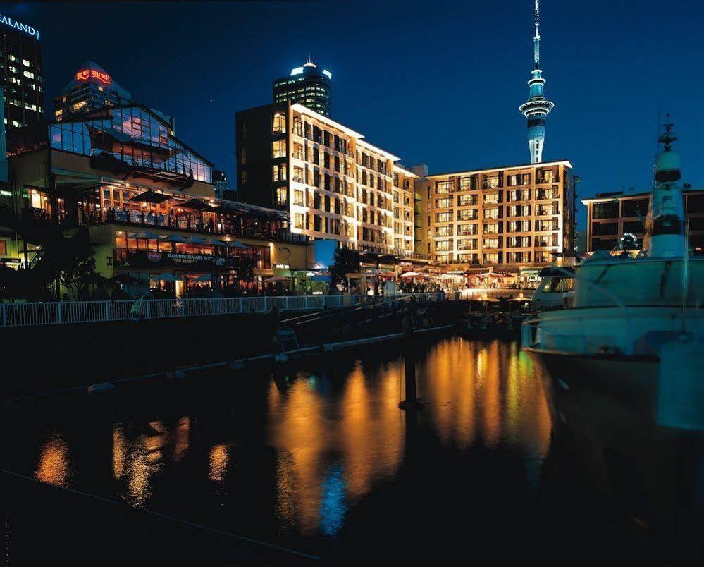
{"type": "MultiPolygon", "coordinates": [[[[135,101],[131,92],[118,85],[98,63],[86,61],[75,72],[70,83],[63,87],[61,94],[54,97],[54,119],[57,122],[70,121],[105,106],[124,106],[132,102],[135,101]]],[[[173,135],[173,118],[150,110],[168,122],[173,135]]]]}

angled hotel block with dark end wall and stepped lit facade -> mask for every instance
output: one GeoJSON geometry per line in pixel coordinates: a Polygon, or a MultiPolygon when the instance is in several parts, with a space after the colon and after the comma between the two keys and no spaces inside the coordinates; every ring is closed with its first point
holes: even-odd
{"type": "Polygon", "coordinates": [[[281,102],[237,112],[240,198],[290,214],[292,233],[411,256],[415,173],[327,116],[281,102]]]}

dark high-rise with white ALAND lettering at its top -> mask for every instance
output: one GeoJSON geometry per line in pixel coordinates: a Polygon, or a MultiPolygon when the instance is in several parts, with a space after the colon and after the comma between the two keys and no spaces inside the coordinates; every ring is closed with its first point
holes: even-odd
{"type": "Polygon", "coordinates": [[[43,81],[39,31],[0,14],[0,83],[8,131],[39,122],[44,111],[43,81]]]}

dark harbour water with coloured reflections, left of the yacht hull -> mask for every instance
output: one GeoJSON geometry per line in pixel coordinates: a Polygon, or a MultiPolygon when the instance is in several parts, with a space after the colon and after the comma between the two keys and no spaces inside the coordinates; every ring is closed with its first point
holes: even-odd
{"type": "Polygon", "coordinates": [[[395,347],[296,365],[10,408],[2,468],[41,482],[4,475],[8,564],[306,559],[266,544],[331,563],[653,559],[552,439],[517,343],[419,346],[415,418],[395,347]]]}

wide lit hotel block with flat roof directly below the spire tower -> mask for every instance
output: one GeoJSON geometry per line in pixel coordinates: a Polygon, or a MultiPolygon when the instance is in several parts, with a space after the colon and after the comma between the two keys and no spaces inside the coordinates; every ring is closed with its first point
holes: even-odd
{"type": "Polygon", "coordinates": [[[448,269],[540,266],[573,248],[569,161],[429,175],[416,192],[418,250],[448,269]]]}

